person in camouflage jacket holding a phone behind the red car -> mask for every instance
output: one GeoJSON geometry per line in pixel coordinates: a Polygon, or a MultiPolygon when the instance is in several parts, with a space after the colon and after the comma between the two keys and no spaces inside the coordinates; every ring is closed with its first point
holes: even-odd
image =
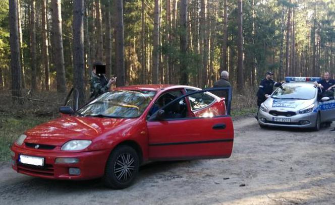
{"type": "Polygon", "coordinates": [[[116,83],[116,78],[111,78],[107,80],[106,75],[103,73],[97,73],[96,67],[97,65],[104,65],[100,61],[95,61],[93,63],[93,70],[91,73],[91,79],[90,79],[90,98],[96,98],[99,95],[103,94],[104,92],[107,92],[111,85],[116,83]]]}

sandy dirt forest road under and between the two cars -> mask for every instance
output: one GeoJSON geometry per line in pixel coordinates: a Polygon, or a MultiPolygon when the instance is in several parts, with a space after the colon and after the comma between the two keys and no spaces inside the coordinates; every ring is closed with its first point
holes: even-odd
{"type": "Polygon", "coordinates": [[[335,134],[236,120],[229,159],[153,163],[135,184],[51,181],[0,166],[0,204],[334,204],[335,134]],[[244,186],[243,186],[244,185],[244,186]]]}

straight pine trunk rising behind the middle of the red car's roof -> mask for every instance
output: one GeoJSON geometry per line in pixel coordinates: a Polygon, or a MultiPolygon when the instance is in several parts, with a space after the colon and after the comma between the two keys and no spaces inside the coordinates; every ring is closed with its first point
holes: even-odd
{"type": "Polygon", "coordinates": [[[152,83],[158,83],[159,68],[159,15],[160,0],[155,0],[153,17],[152,83]]]}

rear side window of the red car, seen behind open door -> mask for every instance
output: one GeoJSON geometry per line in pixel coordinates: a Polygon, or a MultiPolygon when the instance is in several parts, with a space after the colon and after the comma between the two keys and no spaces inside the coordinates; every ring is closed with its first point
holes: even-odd
{"type": "MultiPolygon", "coordinates": [[[[195,90],[186,89],[187,93],[192,93],[194,91],[195,90]]],[[[214,97],[210,96],[209,94],[207,94],[205,92],[190,95],[188,97],[188,99],[190,101],[192,111],[207,107],[208,105],[210,105],[215,100],[214,97]]]]}

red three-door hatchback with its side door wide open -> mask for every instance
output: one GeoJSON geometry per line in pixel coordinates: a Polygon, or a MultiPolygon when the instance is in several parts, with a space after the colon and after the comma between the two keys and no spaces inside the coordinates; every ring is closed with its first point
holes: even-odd
{"type": "Polygon", "coordinates": [[[232,154],[225,98],[195,87],[121,87],[60,112],[13,144],[14,170],[47,179],[102,177],[109,187],[125,188],[147,162],[232,154]]]}

